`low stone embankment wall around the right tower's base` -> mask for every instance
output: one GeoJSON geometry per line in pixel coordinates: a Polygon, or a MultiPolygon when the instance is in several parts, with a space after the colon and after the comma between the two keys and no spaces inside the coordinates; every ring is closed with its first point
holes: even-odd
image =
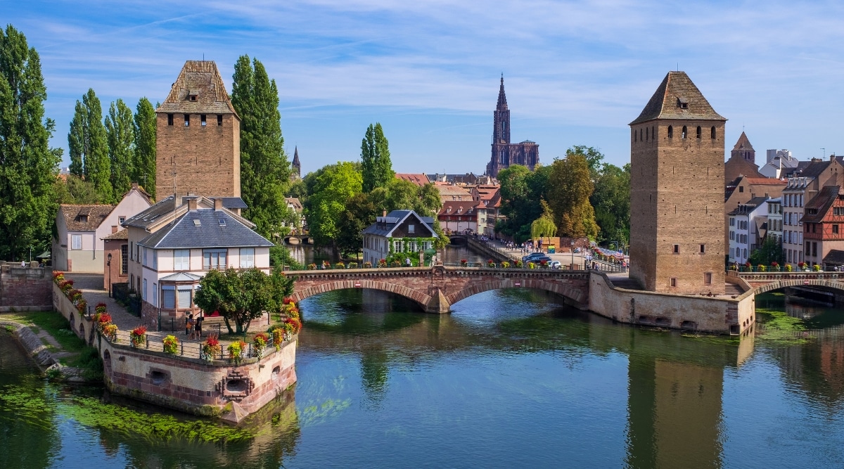
{"type": "Polygon", "coordinates": [[[753,326],[754,298],[723,299],[659,294],[615,288],[605,274],[592,272],[589,309],[614,321],[721,334],[753,326]]]}

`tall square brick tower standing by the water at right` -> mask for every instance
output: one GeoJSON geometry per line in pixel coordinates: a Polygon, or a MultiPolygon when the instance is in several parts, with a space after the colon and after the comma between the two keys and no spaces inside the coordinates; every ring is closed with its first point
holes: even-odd
{"type": "Polygon", "coordinates": [[[724,124],[684,72],[630,122],[630,278],[649,291],[724,293],[724,124]]]}

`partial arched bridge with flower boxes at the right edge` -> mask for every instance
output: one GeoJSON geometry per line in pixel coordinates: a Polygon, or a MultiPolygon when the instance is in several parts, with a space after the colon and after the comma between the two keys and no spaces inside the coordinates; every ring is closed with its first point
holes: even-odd
{"type": "Polygon", "coordinates": [[[788,287],[820,288],[844,294],[844,272],[729,272],[745,294],[762,294],[788,287]]]}

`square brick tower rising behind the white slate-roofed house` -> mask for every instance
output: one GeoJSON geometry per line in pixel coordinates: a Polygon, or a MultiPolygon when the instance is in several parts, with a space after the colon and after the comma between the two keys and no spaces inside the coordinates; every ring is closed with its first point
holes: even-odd
{"type": "Polygon", "coordinates": [[[216,63],[185,62],[155,116],[159,199],[174,186],[178,196],[241,197],[241,118],[216,63]]]}

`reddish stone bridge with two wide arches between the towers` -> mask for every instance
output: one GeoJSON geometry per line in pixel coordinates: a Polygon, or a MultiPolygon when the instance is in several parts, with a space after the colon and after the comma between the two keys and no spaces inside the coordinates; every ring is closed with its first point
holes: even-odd
{"type": "Polygon", "coordinates": [[[537,288],[586,309],[589,272],[479,267],[398,267],[285,272],[296,279],[293,299],[344,288],[372,288],[402,295],[430,313],[447,313],[473,294],[499,288],[537,288]]]}

